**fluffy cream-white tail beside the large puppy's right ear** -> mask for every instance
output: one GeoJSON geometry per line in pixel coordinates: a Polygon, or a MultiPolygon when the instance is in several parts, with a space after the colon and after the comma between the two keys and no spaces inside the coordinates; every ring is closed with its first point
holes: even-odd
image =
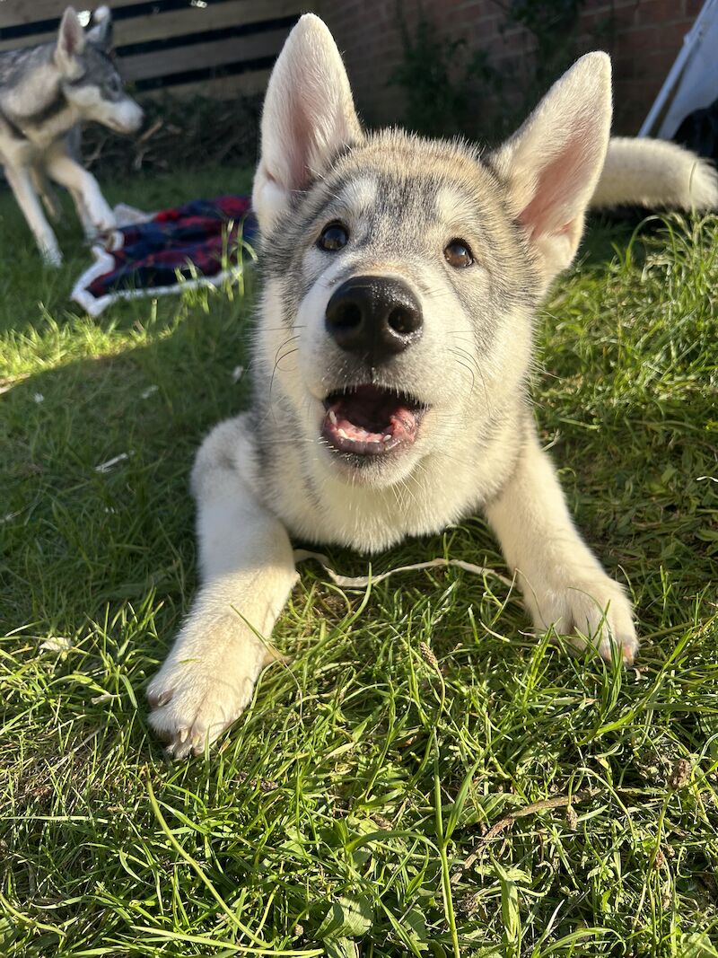
{"type": "Polygon", "coordinates": [[[718,172],[665,140],[614,137],[591,206],[718,210],[718,172]]]}

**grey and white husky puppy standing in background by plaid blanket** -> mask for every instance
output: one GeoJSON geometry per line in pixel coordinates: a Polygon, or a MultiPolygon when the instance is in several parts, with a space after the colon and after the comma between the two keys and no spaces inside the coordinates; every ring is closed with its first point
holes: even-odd
{"type": "Polygon", "coordinates": [[[68,7],[56,42],[0,54],[0,160],[43,259],[53,265],[62,256],[38,198],[56,217],[48,177],[69,190],[88,237],[115,226],[97,180],[75,158],[79,124],[92,120],[120,133],[142,124],[143,111],[124,93],[109,57],[111,45],[106,7],[87,33],[68,7]]]}

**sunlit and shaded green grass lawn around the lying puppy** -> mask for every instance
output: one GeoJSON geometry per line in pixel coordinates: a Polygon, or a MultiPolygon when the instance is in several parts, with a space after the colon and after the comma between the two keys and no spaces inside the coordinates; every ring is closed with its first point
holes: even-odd
{"type": "MultiPolygon", "coordinates": [[[[196,585],[193,451],[247,399],[252,280],[93,322],[77,231],[54,272],[7,195],[0,217],[0,952],[718,955],[715,220],[596,228],[541,321],[536,417],[635,597],[637,669],[534,641],[492,576],[364,594],[307,563],[286,663],[169,764],[144,689],[196,585]]],[[[505,572],[478,519],[375,567],[437,556],[505,572]]]]}

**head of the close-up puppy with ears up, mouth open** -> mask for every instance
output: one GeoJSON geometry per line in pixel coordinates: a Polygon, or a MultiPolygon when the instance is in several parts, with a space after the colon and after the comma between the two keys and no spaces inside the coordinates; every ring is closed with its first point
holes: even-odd
{"type": "Polygon", "coordinates": [[[266,428],[374,486],[488,436],[524,388],[531,315],[572,262],[610,118],[609,60],[591,54],[493,154],[365,134],[331,35],[303,16],[253,193],[266,428]]]}

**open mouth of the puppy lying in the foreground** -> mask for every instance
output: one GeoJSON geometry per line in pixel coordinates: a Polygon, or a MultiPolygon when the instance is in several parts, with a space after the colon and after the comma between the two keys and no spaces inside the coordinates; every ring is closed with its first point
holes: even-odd
{"type": "Polygon", "coordinates": [[[404,393],[356,386],[325,399],[322,436],[339,452],[382,456],[413,445],[426,407],[404,393]]]}

